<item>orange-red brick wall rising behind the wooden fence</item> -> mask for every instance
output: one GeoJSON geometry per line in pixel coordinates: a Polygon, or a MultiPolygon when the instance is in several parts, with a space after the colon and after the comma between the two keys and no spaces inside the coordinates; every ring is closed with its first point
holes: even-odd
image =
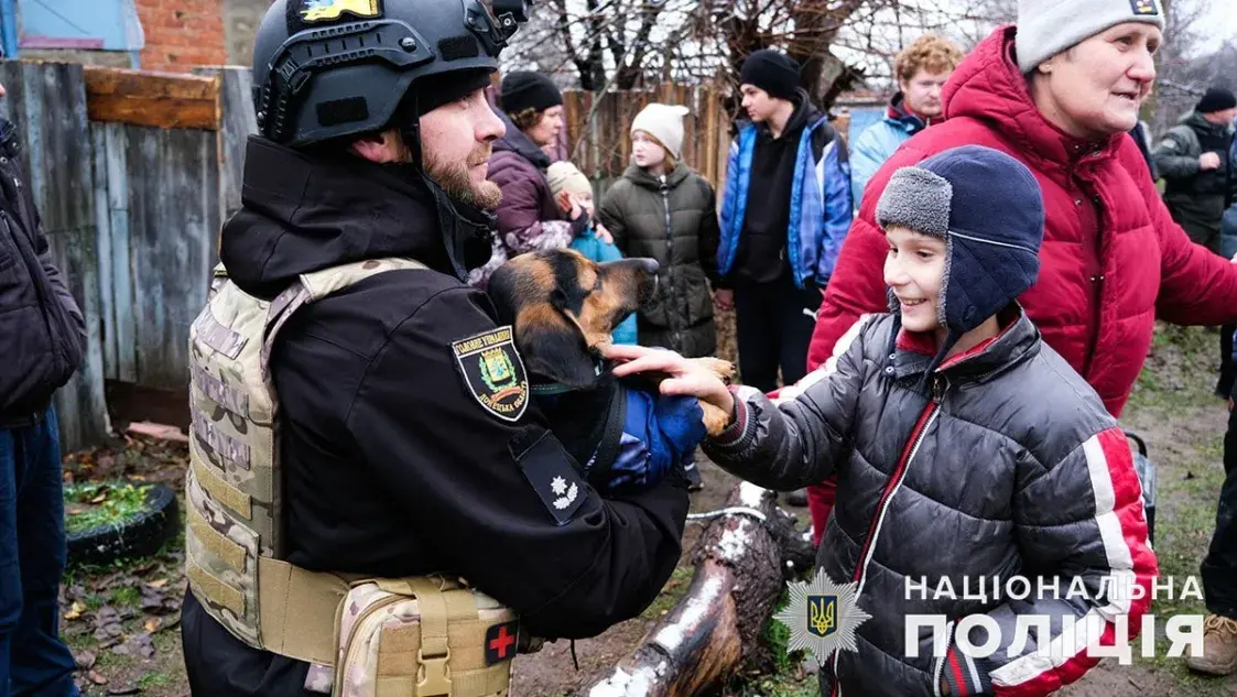
{"type": "Polygon", "coordinates": [[[136,0],[146,35],[143,70],[188,72],[224,65],[224,0],[136,0]]]}

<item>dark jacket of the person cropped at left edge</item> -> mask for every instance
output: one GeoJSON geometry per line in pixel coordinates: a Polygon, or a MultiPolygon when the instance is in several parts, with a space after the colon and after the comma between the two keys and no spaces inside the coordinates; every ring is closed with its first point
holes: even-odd
{"type": "Polygon", "coordinates": [[[0,429],[33,423],[85,350],[85,321],[52,264],[20,150],[0,120],[0,429]]]}

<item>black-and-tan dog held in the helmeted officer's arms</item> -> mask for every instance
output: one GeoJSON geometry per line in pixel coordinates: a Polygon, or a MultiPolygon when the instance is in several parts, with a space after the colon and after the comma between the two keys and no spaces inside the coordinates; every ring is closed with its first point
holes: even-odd
{"type": "MultiPolygon", "coordinates": [[[[499,267],[487,293],[500,323],[515,327],[516,346],[537,394],[538,386],[588,392],[604,383],[609,367],[599,348],[610,344],[615,326],[652,298],[656,288],[653,260],[596,263],[574,250],[549,250],[520,255],[499,267]]],[[[729,361],[695,360],[722,379],[735,374],[729,361]]],[[[647,388],[657,392],[664,378],[653,376],[647,388]]],[[[700,408],[706,431],[719,435],[730,414],[705,402],[700,408]]]]}

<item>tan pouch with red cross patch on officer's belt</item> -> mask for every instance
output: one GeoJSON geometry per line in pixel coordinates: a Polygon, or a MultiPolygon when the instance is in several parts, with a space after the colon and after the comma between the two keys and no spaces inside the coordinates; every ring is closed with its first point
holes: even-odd
{"type": "Polygon", "coordinates": [[[334,697],[506,691],[518,627],[515,613],[438,577],[355,583],[336,610],[335,667],[313,665],[309,692],[334,697]]]}

